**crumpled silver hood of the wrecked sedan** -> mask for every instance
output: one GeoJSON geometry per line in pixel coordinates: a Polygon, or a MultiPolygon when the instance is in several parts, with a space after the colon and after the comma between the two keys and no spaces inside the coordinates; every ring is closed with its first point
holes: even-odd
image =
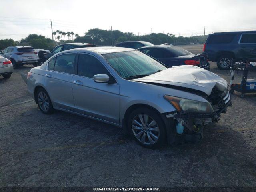
{"type": "Polygon", "coordinates": [[[220,76],[191,65],[174,66],[143,78],[134,79],[133,81],[186,87],[202,91],[207,95],[211,94],[214,86],[220,91],[224,91],[228,86],[226,80],[220,76]]]}

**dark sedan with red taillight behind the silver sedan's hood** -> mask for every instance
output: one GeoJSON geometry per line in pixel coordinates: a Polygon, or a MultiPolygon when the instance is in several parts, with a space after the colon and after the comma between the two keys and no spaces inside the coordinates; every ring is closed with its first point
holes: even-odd
{"type": "Polygon", "coordinates": [[[189,51],[173,45],[155,45],[138,48],[163,64],[172,67],[177,65],[194,65],[210,70],[207,54],[192,54],[189,51]]]}

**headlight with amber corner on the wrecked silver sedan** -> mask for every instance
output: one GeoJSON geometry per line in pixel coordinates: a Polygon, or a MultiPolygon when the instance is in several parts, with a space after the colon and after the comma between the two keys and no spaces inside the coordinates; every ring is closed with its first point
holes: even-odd
{"type": "Polygon", "coordinates": [[[209,102],[200,102],[190,99],[184,99],[165,95],[164,98],[170,102],[177,111],[194,112],[194,113],[212,113],[214,112],[209,102]]]}

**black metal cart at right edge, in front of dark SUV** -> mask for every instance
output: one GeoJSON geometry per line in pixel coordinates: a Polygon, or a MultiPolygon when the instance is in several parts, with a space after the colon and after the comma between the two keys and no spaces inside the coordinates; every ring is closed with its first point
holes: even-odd
{"type": "Polygon", "coordinates": [[[238,91],[238,92],[241,93],[240,94],[241,98],[244,97],[245,93],[256,93],[256,89],[251,89],[251,90],[246,89],[248,71],[256,71],[256,67],[251,66],[249,64],[249,61],[247,61],[245,63],[239,62],[239,63],[232,64],[232,66],[231,66],[231,81],[230,81],[231,90],[230,90],[230,93],[233,94],[234,91],[238,91]],[[233,84],[235,71],[242,71],[243,72],[241,84],[233,84]]]}

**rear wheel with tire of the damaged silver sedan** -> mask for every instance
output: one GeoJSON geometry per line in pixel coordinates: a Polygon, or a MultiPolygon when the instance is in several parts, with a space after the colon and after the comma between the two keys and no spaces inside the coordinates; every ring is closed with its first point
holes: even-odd
{"type": "Polygon", "coordinates": [[[36,101],[40,111],[44,114],[52,114],[54,109],[52,102],[46,90],[44,88],[39,88],[36,92],[36,101]]]}

